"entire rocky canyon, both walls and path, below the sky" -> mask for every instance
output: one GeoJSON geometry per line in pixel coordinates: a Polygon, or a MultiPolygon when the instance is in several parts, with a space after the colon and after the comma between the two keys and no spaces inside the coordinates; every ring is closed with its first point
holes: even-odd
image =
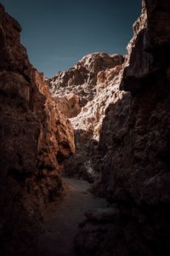
{"type": "Polygon", "coordinates": [[[0,4],[0,255],[170,255],[170,2],[127,55],[44,78],[0,4]]]}

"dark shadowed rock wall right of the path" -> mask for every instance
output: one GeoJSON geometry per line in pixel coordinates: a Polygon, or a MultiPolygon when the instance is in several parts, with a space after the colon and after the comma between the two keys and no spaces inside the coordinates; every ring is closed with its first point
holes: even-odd
{"type": "MultiPolygon", "coordinates": [[[[124,104],[120,101],[107,109],[100,137],[101,150],[105,148],[106,154],[113,154],[114,150],[111,158],[104,156],[111,160],[109,170],[114,176],[108,179],[109,183],[114,181],[114,184],[110,186],[107,183],[107,188],[112,188],[110,192],[113,197],[118,195],[117,178],[118,182],[123,183],[122,189],[127,190],[136,203],[169,201],[168,7],[170,4],[166,2],[146,1],[147,27],[136,38],[129,66],[124,69],[120,85],[122,90],[131,91],[132,96],[129,100],[124,96],[124,104]],[[159,23],[156,22],[158,17],[159,23]],[[108,126],[112,131],[110,137],[105,133],[108,126]],[[110,146],[109,153],[107,149],[110,146]]],[[[102,172],[105,176],[105,171],[102,172]]]]}

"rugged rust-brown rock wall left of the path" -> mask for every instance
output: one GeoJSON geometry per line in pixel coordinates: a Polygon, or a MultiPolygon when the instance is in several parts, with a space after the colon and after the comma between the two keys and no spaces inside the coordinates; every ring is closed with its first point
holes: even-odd
{"type": "Polygon", "coordinates": [[[61,194],[71,123],[20,44],[20,25],[0,4],[0,247],[35,255],[41,208],[61,194]]]}

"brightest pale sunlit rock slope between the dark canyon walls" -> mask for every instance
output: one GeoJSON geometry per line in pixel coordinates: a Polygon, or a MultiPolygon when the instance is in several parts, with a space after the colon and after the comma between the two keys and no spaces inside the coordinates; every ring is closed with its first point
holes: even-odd
{"type": "Polygon", "coordinates": [[[95,140],[99,141],[105,109],[111,102],[116,102],[123,95],[123,92],[119,90],[122,70],[123,64],[98,73],[96,96],[82,108],[77,117],[71,119],[75,130],[88,131],[95,140]]]}

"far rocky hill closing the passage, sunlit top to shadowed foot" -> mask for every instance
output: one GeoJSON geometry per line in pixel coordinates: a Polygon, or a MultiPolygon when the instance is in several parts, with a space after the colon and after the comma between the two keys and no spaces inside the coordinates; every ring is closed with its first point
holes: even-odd
{"type": "Polygon", "coordinates": [[[122,55],[90,54],[48,80],[55,102],[70,118],[75,133],[77,149],[65,161],[67,176],[83,177],[89,182],[99,176],[99,172],[94,172],[99,158],[99,134],[105,109],[123,95],[119,83],[124,59],[122,55]]]}

